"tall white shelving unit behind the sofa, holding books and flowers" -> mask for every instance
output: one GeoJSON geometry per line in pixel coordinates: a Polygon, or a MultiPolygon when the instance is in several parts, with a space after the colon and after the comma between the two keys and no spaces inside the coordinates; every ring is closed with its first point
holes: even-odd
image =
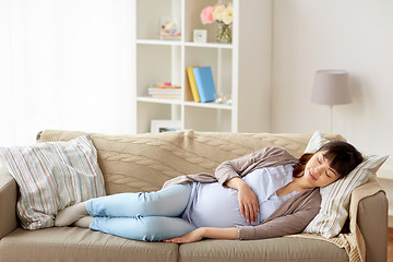
{"type": "Polygon", "coordinates": [[[215,39],[217,24],[203,25],[201,11],[212,0],[132,0],[134,17],[134,132],[150,131],[151,120],[180,120],[198,131],[264,132],[270,130],[272,0],[233,0],[233,43],[215,39]],[[160,17],[181,22],[181,39],[160,40],[160,17]],[[193,43],[193,31],[206,29],[207,43],[193,43]],[[194,103],[186,68],[212,67],[218,94],[231,105],[194,103]],[[147,96],[151,83],[182,86],[181,99],[147,96]]]}

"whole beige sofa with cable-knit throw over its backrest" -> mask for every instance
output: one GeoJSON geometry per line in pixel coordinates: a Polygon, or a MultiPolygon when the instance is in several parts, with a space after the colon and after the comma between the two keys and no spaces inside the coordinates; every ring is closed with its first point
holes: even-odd
{"type": "MultiPolygon", "coordinates": [[[[44,131],[41,142],[69,141],[85,133],[44,131]]],[[[264,146],[282,146],[295,156],[311,134],[209,133],[91,134],[108,194],[158,190],[183,174],[213,172],[231,159],[264,146]]],[[[327,135],[329,139],[342,139],[327,135]]],[[[378,183],[374,183],[379,187],[378,183]]],[[[360,191],[361,187],[353,192],[360,191]]],[[[133,241],[76,227],[24,230],[15,214],[17,186],[0,171],[0,261],[349,261],[336,245],[301,237],[265,240],[203,240],[176,245],[133,241]]],[[[382,191],[359,202],[357,224],[367,261],[386,261],[388,201],[382,191]]]]}

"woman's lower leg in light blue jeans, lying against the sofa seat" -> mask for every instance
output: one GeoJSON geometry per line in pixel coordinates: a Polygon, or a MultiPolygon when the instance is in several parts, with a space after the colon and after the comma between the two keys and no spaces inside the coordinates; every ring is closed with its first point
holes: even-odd
{"type": "Polygon", "coordinates": [[[95,217],[90,228],[143,241],[162,241],[181,237],[195,229],[190,223],[179,217],[165,216],[95,217]]]}

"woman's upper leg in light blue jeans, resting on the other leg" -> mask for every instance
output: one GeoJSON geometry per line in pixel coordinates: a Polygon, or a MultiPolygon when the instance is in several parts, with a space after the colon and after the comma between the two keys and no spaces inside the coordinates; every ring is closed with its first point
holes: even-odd
{"type": "Polygon", "coordinates": [[[156,192],[120,193],[87,201],[92,216],[180,216],[191,194],[191,184],[175,184],[156,192]]]}

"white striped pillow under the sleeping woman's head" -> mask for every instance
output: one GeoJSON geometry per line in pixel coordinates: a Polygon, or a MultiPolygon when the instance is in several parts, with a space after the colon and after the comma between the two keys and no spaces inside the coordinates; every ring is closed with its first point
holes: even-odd
{"type": "MultiPolygon", "coordinates": [[[[324,135],[317,131],[305,153],[313,153],[329,142],[324,135]]],[[[338,179],[327,187],[321,188],[321,210],[319,214],[305,228],[305,233],[319,234],[323,237],[335,237],[342,230],[348,216],[352,191],[377,172],[389,155],[364,156],[364,162],[343,179],[338,179]]]]}

